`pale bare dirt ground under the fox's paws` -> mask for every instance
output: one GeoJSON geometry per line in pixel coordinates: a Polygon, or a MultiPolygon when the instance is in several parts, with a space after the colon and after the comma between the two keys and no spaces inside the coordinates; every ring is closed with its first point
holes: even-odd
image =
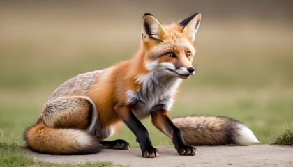
{"type": "Polygon", "coordinates": [[[28,150],[35,159],[54,163],[112,161],[123,166],[293,166],[293,146],[197,146],[196,156],[179,156],[173,146],[158,146],[159,157],[142,158],[140,148],[103,150],[92,155],[48,155],[28,150]]]}

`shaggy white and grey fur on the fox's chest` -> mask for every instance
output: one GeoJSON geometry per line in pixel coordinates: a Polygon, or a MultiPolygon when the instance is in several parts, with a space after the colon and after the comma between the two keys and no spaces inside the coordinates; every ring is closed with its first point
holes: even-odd
{"type": "Polygon", "coordinates": [[[176,92],[181,79],[150,72],[138,76],[137,82],[142,84],[142,87],[135,92],[128,90],[127,102],[136,106],[135,113],[138,118],[144,118],[157,109],[170,111],[173,104],[172,95],[176,92]]]}

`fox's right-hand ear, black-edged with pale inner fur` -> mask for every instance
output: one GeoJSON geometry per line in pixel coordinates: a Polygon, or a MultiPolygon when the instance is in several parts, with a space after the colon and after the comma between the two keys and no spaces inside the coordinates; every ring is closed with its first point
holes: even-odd
{"type": "Polygon", "coordinates": [[[195,33],[200,26],[200,17],[200,13],[195,13],[194,15],[178,23],[180,26],[183,26],[182,34],[186,35],[191,41],[195,40],[195,33]]]}

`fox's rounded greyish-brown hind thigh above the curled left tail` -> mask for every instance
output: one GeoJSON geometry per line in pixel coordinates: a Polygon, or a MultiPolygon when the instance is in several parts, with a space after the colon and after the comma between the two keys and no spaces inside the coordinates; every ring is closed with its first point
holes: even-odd
{"type": "Polygon", "coordinates": [[[48,127],[82,129],[96,136],[105,138],[100,133],[96,105],[89,97],[59,97],[50,100],[43,108],[40,119],[48,127]]]}

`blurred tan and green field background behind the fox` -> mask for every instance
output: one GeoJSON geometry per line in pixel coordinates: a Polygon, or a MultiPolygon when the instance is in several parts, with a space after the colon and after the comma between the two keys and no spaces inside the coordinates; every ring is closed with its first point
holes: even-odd
{"type": "MultiPolygon", "coordinates": [[[[133,56],[140,22],[202,13],[195,76],[172,116],[229,116],[271,143],[293,122],[292,1],[0,1],[0,130],[22,140],[50,94],[67,79],[133,56]]],[[[172,142],[149,119],[155,145],[172,142]]],[[[123,127],[112,138],[137,146],[123,127]]]]}

